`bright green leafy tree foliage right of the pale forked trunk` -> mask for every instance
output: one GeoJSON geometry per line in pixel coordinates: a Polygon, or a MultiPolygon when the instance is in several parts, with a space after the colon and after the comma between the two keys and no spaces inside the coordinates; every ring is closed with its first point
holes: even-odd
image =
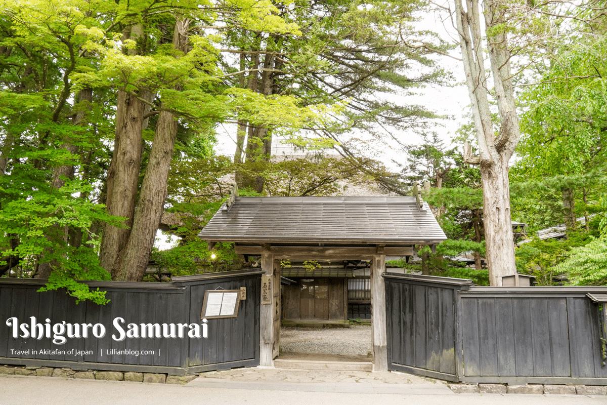
{"type": "Polygon", "coordinates": [[[530,229],[563,220],[563,190],[574,193],[574,214],[604,215],[607,82],[605,36],[584,36],[526,87],[520,160],[510,171],[512,208],[530,229]]]}

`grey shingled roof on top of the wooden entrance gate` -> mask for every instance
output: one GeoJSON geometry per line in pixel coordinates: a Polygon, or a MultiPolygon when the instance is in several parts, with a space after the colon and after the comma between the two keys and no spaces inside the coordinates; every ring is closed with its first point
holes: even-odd
{"type": "Polygon", "coordinates": [[[209,242],[405,246],[447,237],[415,197],[236,197],[198,237],[209,242]]]}

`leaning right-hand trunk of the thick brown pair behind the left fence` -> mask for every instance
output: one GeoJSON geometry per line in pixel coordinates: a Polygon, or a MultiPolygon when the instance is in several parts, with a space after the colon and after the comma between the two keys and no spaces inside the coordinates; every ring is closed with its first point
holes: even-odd
{"type": "MultiPolygon", "coordinates": [[[[188,47],[190,20],[175,23],[173,46],[183,52],[188,47]]],[[[175,87],[176,90],[180,88],[175,87]]],[[[161,104],[161,107],[164,103],[161,104]]],[[[169,168],[177,137],[177,117],[168,111],[158,115],[154,141],[139,192],[133,226],[112,274],[115,281],[141,281],[145,275],[154,238],[164,211],[169,168]]]]}

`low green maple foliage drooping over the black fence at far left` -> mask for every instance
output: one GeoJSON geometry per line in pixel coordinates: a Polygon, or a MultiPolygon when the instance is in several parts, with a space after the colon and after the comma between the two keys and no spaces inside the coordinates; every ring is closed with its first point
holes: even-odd
{"type": "MultiPolygon", "coordinates": [[[[52,154],[50,155],[52,156],[52,154]]],[[[123,219],[110,217],[104,206],[73,197],[90,192],[80,182],[66,182],[59,189],[45,181],[49,174],[28,165],[13,168],[11,176],[0,177],[0,257],[38,257],[39,263],[53,262],[55,271],[41,291],[66,288],[76,301],[106,302],[103,291],[89,291],[82,280],[108,280],[99,265],[98,235],[89,233],[93,222],[120,225],[123,219]],[[60,232],[69,228],[86,236],[86,245],[69,244],[60,232]],[[12,247],[11,240],[19,236],[12,247]]],[[[33,271],[32,268],[26,270],[33,271]]]]}

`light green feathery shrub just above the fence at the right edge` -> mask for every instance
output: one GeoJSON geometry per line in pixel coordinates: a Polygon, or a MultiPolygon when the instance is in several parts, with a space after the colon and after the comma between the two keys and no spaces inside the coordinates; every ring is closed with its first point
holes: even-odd
{"type": "Polygon", "coordinates": [[[607,285],[607,239],[572,248],[555,270],[568,274],[573,285],[607,285]]]}

